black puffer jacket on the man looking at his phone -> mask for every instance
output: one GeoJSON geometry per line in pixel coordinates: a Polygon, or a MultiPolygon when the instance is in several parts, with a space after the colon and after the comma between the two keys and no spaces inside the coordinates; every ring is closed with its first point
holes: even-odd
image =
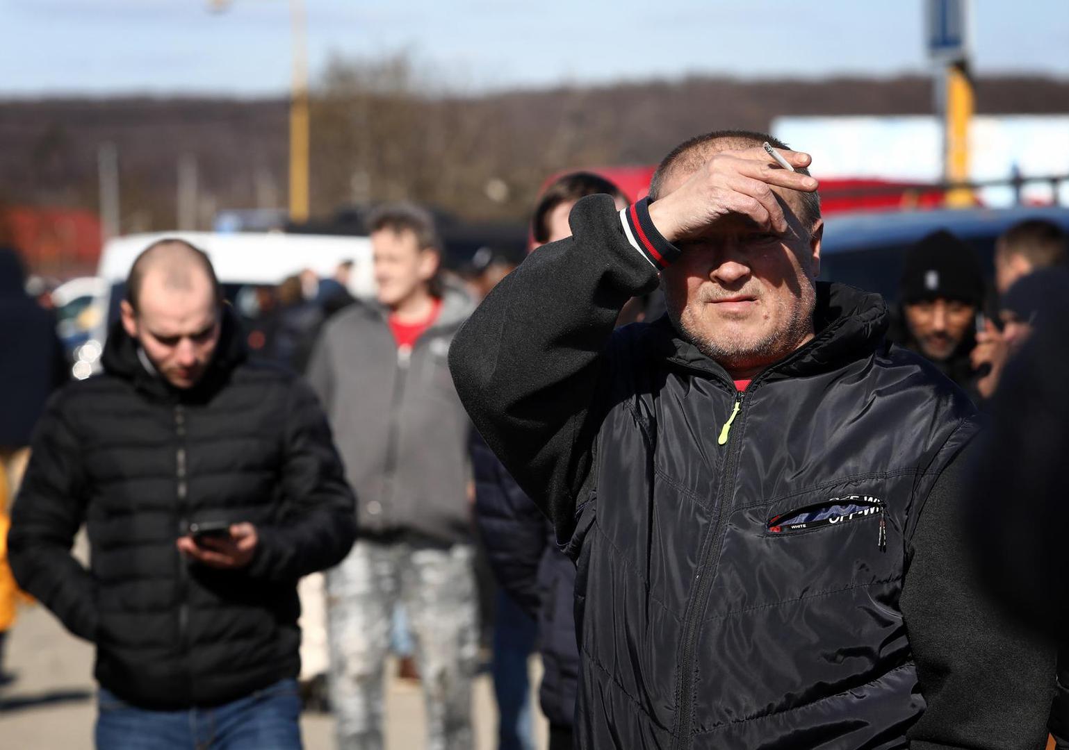
{"type": "Polygon", "coordinates": [[[112,328],[104,375],[49,403],[15,505],[19,583],[97,646],[100,685],[135,705],[247,696],[299,670],[297,579],[339,562],[354,500],[311,391],[245,361],[233,315],[197,387],[150,375],[112,328]],[[242,571],[181,557],[190,521],[251,521],[242,571]],[[88,526],[92,568],[71,556],[88,526]]]}

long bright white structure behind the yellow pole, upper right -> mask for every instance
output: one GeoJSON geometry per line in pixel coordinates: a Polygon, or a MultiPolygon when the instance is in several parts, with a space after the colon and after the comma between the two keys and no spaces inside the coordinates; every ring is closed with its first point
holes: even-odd
{"type": "MultiPolygon", "coordinates": [[[[783,116],[772,132],[812,155],[814,173],[826,178],[938,183],[943,178],[943,123],[935,116],[783,116]]],[[[978,115],[970,128],[970,177],[1008,179],[1069,175],[1069,115],[978,115]]],[[[1013,205],[1013,188],[979,192],[985,205],[1013,205]]],[[[1026,183],[1027,203],[1069,205],[1069,179],[1058,196],[1050,183],[1026,183]]]]}

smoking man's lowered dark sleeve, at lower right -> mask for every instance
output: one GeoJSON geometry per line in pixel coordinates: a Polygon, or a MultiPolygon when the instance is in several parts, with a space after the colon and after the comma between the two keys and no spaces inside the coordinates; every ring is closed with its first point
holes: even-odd
{"type": "Polygon", "coordinates": [[[928,704],[909,734],[913,750],[1023,750],[1047,739],[1055,650],[981,590],[970,557],[964,488],[975,444],[943,470],[911,541],[901,608],[928,704]]]}

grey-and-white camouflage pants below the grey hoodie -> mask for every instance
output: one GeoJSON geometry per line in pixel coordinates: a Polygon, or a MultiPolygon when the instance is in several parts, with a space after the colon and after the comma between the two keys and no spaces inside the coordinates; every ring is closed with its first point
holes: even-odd
{"type": "Polygon", "coordinates": [[[428,750],[470,750],[478,649],[470,545],[439,549],[359,540],[327,574],[330,703],[340,750],[382,750],[383,668],[393,608],[416,637],[428,750]]]}

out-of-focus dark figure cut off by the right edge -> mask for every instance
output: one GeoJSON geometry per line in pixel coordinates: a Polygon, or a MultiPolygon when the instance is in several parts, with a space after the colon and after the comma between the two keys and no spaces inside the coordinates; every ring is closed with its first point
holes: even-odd
{"type": "Polygon", "coordinates": [[[977,513],[969,526],[982,579],[993,594],[1014,616],[1062,646],[1050,730],[1058,750],[1066,750],[1069,268],[1055,264],[1019,276],[1002,295],[1000,308],[1008,356],[971,482],[977,513]],[[1005,498],[1013,499],[1012,513],[1004,512],[1005,498]]]}

